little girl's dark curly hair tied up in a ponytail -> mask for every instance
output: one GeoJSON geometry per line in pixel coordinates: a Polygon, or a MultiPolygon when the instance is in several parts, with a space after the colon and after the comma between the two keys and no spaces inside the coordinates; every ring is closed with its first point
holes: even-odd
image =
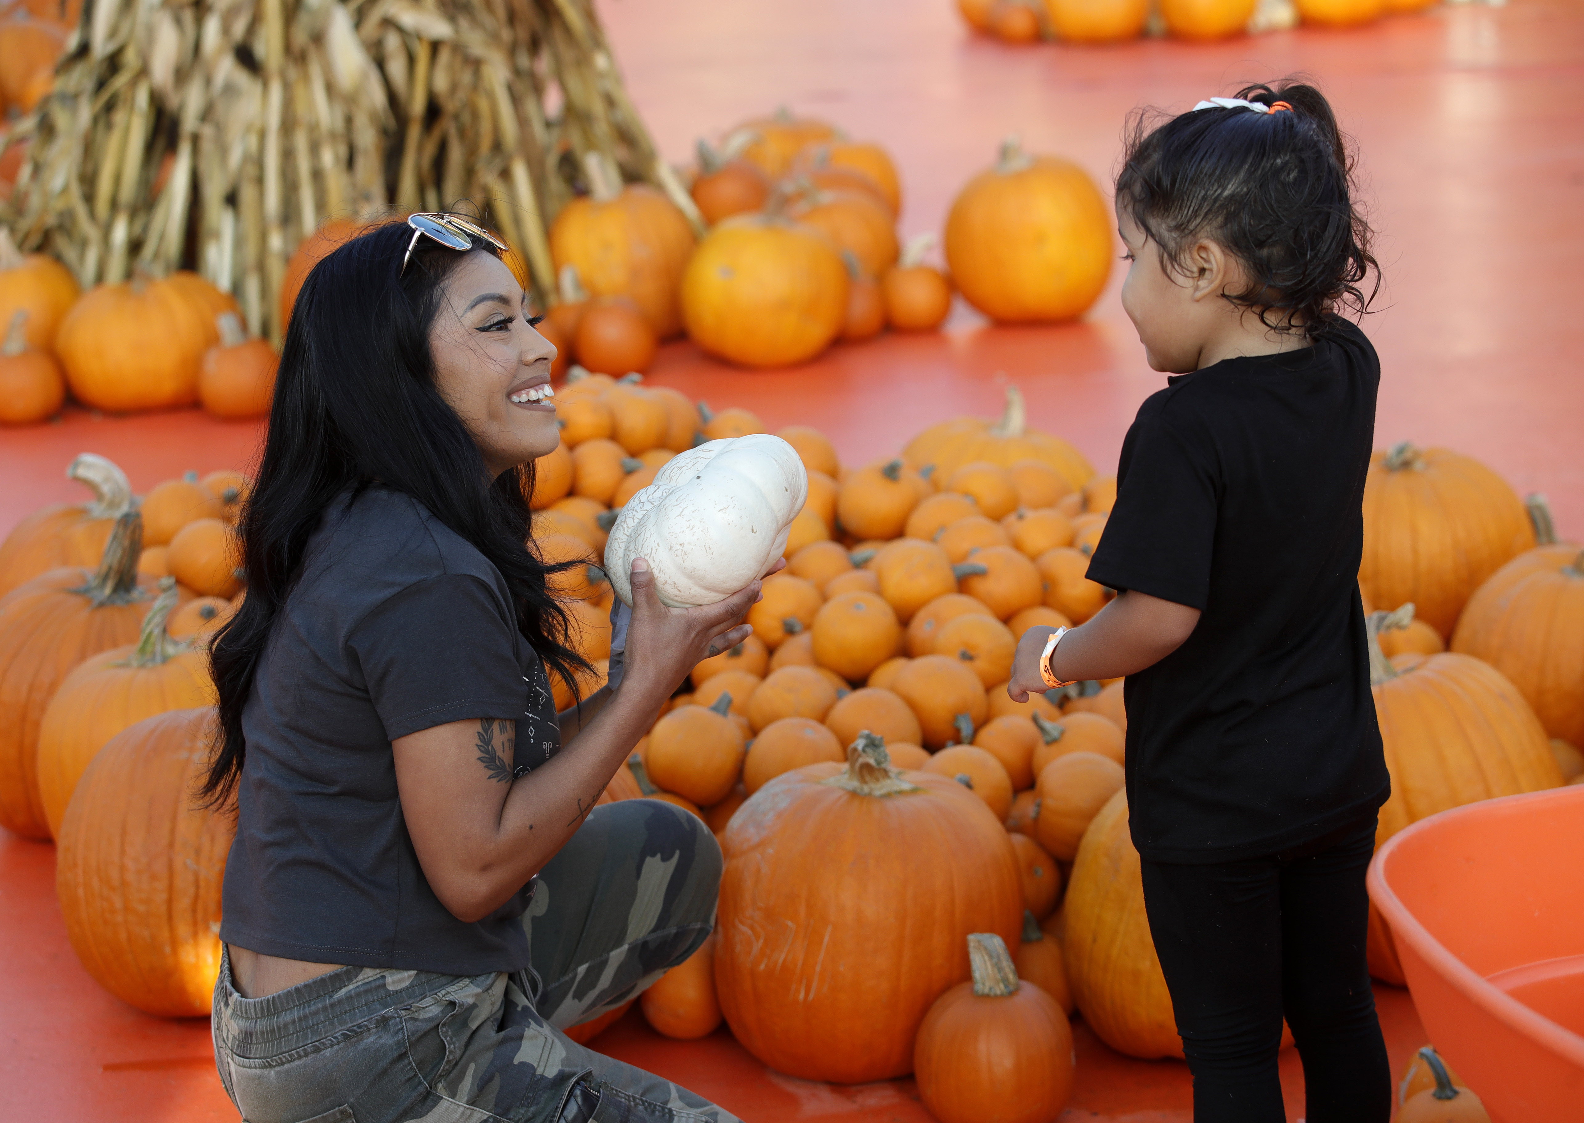
{"type": "Polygon", "coordinates": [[[1338,310],[1369,310],[1380,290],[1372,231],[1353,203],[1353,154],[1313,86],[1248,86],[1236,97],[1286,101],[1291,112],[1234,106],[1166,122],[1134,112],[1117,206],[1159,247],[1163,268],[1185,271],[1193,241],[1213,238],[1248,272],[1248,288],[1226,299],[1267,328],[1321,336],[1338,310]]]}

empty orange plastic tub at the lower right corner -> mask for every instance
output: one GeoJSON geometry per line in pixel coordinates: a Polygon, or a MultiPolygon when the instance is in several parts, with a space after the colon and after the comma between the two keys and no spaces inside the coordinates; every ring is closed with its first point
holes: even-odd
{"type": "Polygon", "coordinates": [[[1437,1050],[1494,1123],[1584,1120],[1584,786],[1443,811],[1370,865],[1437,1050]]]}

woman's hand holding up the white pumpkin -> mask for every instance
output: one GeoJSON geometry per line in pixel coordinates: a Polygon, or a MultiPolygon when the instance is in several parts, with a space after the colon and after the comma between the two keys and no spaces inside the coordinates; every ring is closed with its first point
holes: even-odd
{"type": "MultiPolygon", "coordinates": [[[[779,562],[775,573],[786,562],[779,562]]],[[[632,559],[632,622],[623,656],[623,684],[659,691],[668,697],[700,660],[727,651],[754,629],[741,624],[759,600],[760,581],[752,581],[725,600],[697,608],[670,608],[654,591],[654,573],[643,558],[632,559]]]]}

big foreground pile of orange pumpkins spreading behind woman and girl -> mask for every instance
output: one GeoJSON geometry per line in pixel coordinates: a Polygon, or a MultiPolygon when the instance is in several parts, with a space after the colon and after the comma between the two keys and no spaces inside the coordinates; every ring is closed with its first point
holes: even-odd
{"type": "MultiPolygon", "coordinates": [[[[534,466],[532,546],[573,562],[554,583],[596,668],[556,683],[564,708],[604,681],[619,508],[676,453],[767,426],[581,369],[554,401],[562,443],[534,466]]],[[[952,418],[862,466],[808,426],[778,436],[808,472],[787,567],[749,611],[754,634],[694,668],[602,795],[684,806],[725,854],[718,931],[645,992],[645,1017],[683,1039],[724,1020],[805,1079],[912,1071],[942,1120],[973,1118],[960,1093],[977,1079],[952,1034],[1006,1028],[974,1011],[1017,1009],[1042,1042],[1050,1071],[998,1090],[1020,1118],[1053,1118],[1071,1090],[1069,1017],[1123,1053],[1180,1056],[1128,835],[1123,684],[1023,703],[1004,687],[1023,629],[1079,624],[1112,596],[1085,569],[1115,482],[1028,428],[1011,386],[1001,418],[952,418]],[[985,1006],[1025,992],[1042,998],[985,1006]]],[[[100,458],[71,474],[93,501],[0,545],[0,824],[57,839],[95,979],[150,1012],[201,1014],[230,825],[185,794],[212,722],[204,637],[246,596],[231,521],[247,480],[169,480],[136,501],[100,458]]],[[[1543,501],[1399,445],[1372,463],[1364,521],[1362,597],[1394,607],[1369,616],[1392,773],[1380,839],[1578,782],[1584,553],[1555,540],[1543,501]]],[[[1378,917],[1370,958],[1402,980],[1378,917]]],[[[996,1072],[1031,1071],[1023,1047],[992,1053],[1011,1066],[996,1072]]]]}

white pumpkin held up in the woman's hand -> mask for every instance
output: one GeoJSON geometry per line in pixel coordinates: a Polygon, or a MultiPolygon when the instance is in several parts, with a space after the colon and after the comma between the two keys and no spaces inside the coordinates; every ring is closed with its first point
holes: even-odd
{"type": "Polygon", "coordinates": [[[632,559],[672,608],[713,605],[776,564],[808,499],[808,470],[781,437],[756,432],[678,453],[621,508],[605,570],[632,603],[632,559]]]}

